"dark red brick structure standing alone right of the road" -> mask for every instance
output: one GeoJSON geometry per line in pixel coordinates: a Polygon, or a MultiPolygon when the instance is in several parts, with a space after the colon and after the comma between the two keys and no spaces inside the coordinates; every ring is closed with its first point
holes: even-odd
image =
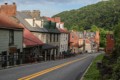
{"type": "Polygon", "coordinates": [[[106,53],[111,53],[114,49],[114,38],[112,34],[106,36],[106,53]]]}

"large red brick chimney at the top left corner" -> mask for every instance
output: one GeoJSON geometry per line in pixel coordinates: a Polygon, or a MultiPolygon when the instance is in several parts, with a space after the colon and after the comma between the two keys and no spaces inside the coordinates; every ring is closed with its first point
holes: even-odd
{"type": "Polygon", "coordinates": [[[8,5],[5,3],[4,5],[1,5],[0,7],[0,14],[6,14],[8,16],[15,16],[16,15],[16,4],[13,3],[12,5],[8,5]]]}

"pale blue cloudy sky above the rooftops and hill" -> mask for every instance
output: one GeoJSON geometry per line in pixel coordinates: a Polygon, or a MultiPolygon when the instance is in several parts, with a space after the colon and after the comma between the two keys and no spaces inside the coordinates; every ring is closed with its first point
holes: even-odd
{"type": "Polygon", "coordinates": [[[101,0],[0,0],[0,4],[17,4],[17,10],[40,10],[41,16],[51,17],[62,11],[79,9],[101,0]]]}

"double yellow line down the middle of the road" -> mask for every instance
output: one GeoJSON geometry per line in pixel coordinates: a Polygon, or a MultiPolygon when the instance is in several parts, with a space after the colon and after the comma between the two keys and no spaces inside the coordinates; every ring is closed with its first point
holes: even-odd
{"type": "Polygon", "coordinates": [[[69,61],[69,62],[63,63],[63,64],[60,64],[60,65],[57,65],[57,66],[54,66],[54,67],[42,70],[40,72],[37,72],[37,73],[31,74],[31,75],[19,78],[18,80],[31,80],[33,78],[36,78],[36,77],[41,76],[41,75],[44,75],[44,74],[49,73],[49,72],[51,72],[53,70],[59,69],[61,67],[67,66],[69,64],[75,63],[75,62],[83,60],[85,58],[87,58],[87,57],[83,57],[83,58],[80,58],[80,59],[76,59],[76,60],[73,60],[73,61],[69,61]]]}

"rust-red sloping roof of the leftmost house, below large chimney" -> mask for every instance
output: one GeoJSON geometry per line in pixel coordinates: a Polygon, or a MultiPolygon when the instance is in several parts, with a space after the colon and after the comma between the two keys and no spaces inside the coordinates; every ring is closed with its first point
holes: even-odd
{"type": "Polygon", "coordinates": [[[18,23],[12,20],[10,17],[0,14],[0,28],[5,29],[23,29],[18,23]]]}

